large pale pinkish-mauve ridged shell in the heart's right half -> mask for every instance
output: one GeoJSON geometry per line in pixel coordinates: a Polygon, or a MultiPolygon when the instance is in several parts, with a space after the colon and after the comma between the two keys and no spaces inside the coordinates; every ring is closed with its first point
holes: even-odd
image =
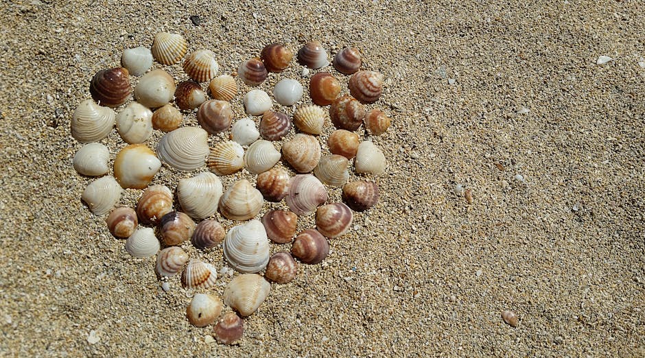
{"type": "Polygon", "coordinates": [[[309,215],[327,201],[327,190],[311,174],[298,174],[290,179],[285,201],[296,215],[309,215]]]}

